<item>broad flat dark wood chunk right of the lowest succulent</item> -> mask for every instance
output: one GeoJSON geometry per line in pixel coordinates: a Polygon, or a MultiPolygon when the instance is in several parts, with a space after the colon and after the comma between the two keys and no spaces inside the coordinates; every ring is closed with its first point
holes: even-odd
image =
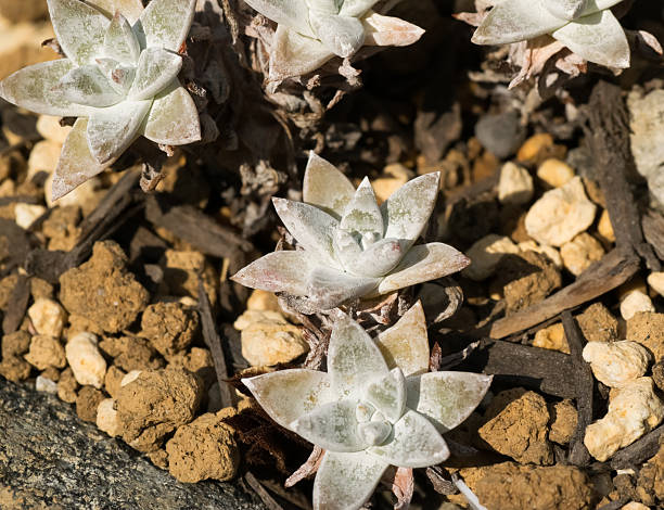
{"type": "Polygon", "coordinates": [[[570,378],[574,365],[570,355],[501,340],[483,340],[469,362],[496,382],[525,386],[562,398],[576,397],[575,381],[570,378]]]}

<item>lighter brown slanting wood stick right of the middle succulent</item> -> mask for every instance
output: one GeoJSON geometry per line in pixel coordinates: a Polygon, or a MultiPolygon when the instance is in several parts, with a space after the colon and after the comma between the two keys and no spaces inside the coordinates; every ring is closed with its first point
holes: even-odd
{"type": "Polygon", "coordinates": [[[574,283],[525,310],[498,319],[490,327],[491,339],[503,339],[548,320],[563,310],[592,301],[622,285],[639,270],[636,255],[625,256],[620,250],[609,252],[586,269],[574,283]]]}

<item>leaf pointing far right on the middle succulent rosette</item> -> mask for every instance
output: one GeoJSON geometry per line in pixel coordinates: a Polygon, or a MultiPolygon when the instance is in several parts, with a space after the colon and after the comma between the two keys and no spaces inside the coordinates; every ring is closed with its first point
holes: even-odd
{"type": "Polygon", "coordinates": [[[401,262],[379,284],[376,295],[417,285],[460,271],[470,259],[458,250],[444,243],[412,246],[401,262]]]}

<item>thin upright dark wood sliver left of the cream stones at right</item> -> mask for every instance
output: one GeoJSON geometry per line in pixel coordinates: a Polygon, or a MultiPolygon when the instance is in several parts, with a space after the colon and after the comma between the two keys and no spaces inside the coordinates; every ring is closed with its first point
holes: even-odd
{"type": "Polygon", "coordinates": [[[584,361],[582,352],[586,341],[580,332],[580,329],[570,311],[563,311],[562,323],[565,330],[565,337],[570,346],[570,357],[574,371],[572,372],[576,384],[576,410],[578,420],[576,430],[570,442],[570,455],[567,460],[571,464],[584,467],[590,462],[590,454],[584,445],[586,436],[586,428],[592,423],[592,392],[595,390],[595,380],[590,366],[584,361]]]}

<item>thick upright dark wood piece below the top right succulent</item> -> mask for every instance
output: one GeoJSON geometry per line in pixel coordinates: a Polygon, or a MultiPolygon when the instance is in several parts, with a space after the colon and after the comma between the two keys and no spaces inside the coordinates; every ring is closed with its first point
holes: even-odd
{"type": "Polygon", "coordinates": [[[627,181],[628,175],[636,175],[636,166],[629,141],[629,112],[621,88],[600,80],[586,112],[595,177],[606,200],[616,248],[625,256],[638,253],[649,269],[659,271],[662,265],[643,240],[637,202],[627,181]]]}

